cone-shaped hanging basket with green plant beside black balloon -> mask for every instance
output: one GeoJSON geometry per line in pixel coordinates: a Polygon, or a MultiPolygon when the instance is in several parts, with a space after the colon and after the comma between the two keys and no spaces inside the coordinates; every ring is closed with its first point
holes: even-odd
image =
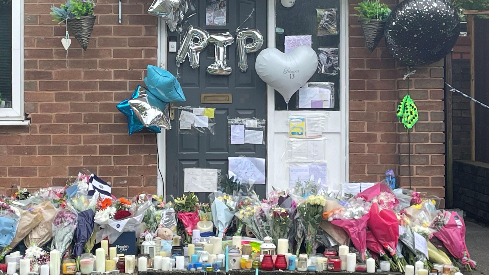
{"type": "Polygon", "coordinates": [[[384,35],[385,20],[391,9],[386,4],[381,4],[379,0],[363,0],[354,9],[359,13],[358,23],[363,30],[365,46],[373,52],[384,35]]]}

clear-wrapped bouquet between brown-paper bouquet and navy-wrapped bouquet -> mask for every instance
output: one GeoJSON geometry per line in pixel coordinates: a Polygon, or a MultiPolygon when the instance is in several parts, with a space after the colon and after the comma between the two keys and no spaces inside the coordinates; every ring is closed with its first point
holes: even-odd
{"type": "Polygon", "coordinates": [[[53,239],[51,250],[58,250],[63,255],[68,249],[77,225],[77,214],[75,210],[66,206],[59,208],[52,224],[53,239]]]}

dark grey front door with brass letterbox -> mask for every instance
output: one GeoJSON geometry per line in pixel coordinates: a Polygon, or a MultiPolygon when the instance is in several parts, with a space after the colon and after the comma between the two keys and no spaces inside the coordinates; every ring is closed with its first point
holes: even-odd
{"type": "MultiPolygon", "coordinates": [[[[229,31],[233,36],[234,30],[243,23],[253,8],[252,17],[242,25],[256,28],[267,37],[267,0],[226,0],[225,26],[206,26],[206,9],[209,2],[219,0],[196,0],[198,12],[189,19],[189,23],[207,30],[209,33],[229,31]]],[[[178,41],[177,33],[168,33],[169,41],[178,41]]],[[[178,44],[179,47],[179,44],[178,44]]],[[[265,45],[264,45],[265,47],[265,45]]],[[[263,49],[263,48],[262,48],[263,49]]],[[[208,65],[214,63],[214,45],[209,44],[200,53],[200,67],[192,69],[188,58],[180,65],[178,81],[185,93],[186,102],[176,105],[191,107],[216,108],[215,135],[195,132],[195,135],[178,134],[178,117],[180,110],[175,110],[175,120],[172,120],[172,130],[166,136],[166,188],[168,195],[180,196],[183,193],[184,168],[217,168],[221,169],[222,176],[227,174],[228,157],[258,157],[266,158],[266,145],[233,145],[228,142],[227,117],[267,117],[267,92],[265,83],[255,72],[256,53],[249,53],[248,70],[241,72],[238,67],[236,41],[227,47],[227,64],[233,68],[230,75],[211,75],[206,72],[208,65]],[[201,94],[204,93],[230,93],[232,103],[201,103],[201,94]]],[[[176,74],[176,52],[168,53],[167,69],[176,74]]],[[[265,185],[257,186],[256,191],[263,196],[265,185]]],[[[213,191],[213,190],[209,190],[213,191]]],[[[199,194],[204,200],[207,193],[199,194]]]]}

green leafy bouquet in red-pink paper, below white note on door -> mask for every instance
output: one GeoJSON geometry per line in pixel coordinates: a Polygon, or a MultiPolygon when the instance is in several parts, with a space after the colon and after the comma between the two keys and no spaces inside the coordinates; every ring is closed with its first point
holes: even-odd
{"type": "Polygon", "coordinates": [[[174,198],[173,201],[178,220],[181,222],[180,226],[177,226],[178,233],[185,234],[185,243],[191,243],[192,229],[199,222],[199,198],[193,192],[189,192],[188,196],[183,194],[181,198],[174,198]]]}

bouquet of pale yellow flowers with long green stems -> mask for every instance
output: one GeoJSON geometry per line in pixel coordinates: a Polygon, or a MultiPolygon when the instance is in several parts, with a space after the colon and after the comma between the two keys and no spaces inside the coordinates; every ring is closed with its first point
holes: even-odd
{"type": "Polygon", "coordinates": [[[297,205],[300,223],[305,233],[306,253],[308,254],[312,252],[312,245],[314,244],[325,205],[326,199],[321,195],[308,196],[303,202],[297,205]]]}

